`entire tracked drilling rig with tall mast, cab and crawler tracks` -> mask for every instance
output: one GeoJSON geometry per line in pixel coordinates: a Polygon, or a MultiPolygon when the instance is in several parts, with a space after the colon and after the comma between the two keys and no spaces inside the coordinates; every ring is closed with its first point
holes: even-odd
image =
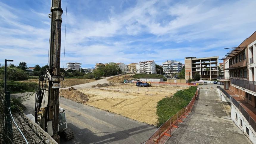
{"type": "Polygon", "coordinates": [[[49,68],[43,70],[39,76],[34,111],[35,123],[40,125],[57,143],[60,143],[60,135],[63,135],[65,140],[74,137],[74,132],[67,127],[65,110],[59,107],[60,82],[64,80],[60,73],[62,13],[61,0],[52,0],[51,14],[49,14],[49,18],[51,18],[49,68]],[[46,91],[48,91],[47,103],[45,102],[46,91]]]}

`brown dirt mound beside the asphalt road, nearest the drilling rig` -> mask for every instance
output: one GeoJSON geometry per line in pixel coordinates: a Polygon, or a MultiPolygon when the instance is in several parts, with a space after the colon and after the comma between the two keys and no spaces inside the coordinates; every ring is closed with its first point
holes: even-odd
{"type": "Polygon", "coordinates": [[[84,93],[78,91],[78,90],[73,90],[69,91],[68,89],[62,90],[61,96],[71,99],[73,101],[76,101],[78,103],[86,103],[89,99],[87,98],[87,95],[84,93]]]}

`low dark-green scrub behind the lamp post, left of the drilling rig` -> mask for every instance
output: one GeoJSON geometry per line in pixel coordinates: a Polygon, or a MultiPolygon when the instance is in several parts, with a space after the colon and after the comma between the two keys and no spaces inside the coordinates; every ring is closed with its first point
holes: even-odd
{"type": "MultiPolygon", "coordinates": [[[[0,81],[0,87],[4,88],[4,81],[0,81]]],[[[9,80],[7,81],[7,91],[10,91],[11,94],[13,93],[21,93],[21,92],[31,92],[35,91],[38,88],[38,83],[35,82],[19,82],[9,80]]]]}

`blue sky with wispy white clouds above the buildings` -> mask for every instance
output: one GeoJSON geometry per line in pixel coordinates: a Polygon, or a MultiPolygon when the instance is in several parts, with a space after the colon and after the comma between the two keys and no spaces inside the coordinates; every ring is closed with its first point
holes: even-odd
{"type": "MultiPolygon", "coordinates": [[[[50,0],[0,0],[0,63],[47,64],[50,0]]],[[[255,0],[62,0],[61,67],[65,63],[220,56],[255,28],[255,0]]],[[[221,60],[220,60],[221,62],[221,60]]]]}

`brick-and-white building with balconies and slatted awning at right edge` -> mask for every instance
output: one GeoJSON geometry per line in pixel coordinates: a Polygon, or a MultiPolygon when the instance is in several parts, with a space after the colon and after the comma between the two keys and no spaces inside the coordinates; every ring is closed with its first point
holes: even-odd
{"type": "Polygon", "coordinates": [[[232,121],[256,143],[256,31],[238,47],[227,49],[224,76],[218,77],[224,89],[219,91],[231,104],[232,121]]]}

